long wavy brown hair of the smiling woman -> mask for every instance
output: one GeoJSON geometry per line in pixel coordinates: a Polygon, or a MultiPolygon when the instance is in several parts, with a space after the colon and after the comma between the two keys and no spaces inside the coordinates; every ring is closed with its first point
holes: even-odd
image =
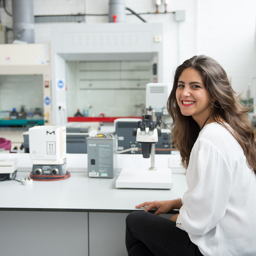
{"type": "Polygon", "coordinates": [[[256,174],[256,133],[247,115],[252,108],[246,108],[240,102],[240,95],[237,95],[232,89],[223,67],[205,55],[193,56],[177,67],[172,92],[167,102],[168,112],[173,118],[173,145],[180,151],[183,166],[188,168],[189,156],[200,132],[200,127],[192,116],[182,115],[177,104],[177,84],[180,75],[186,68],[193,68],[200,72],[206,90],[216,99],[213,102],[211,119],[225,127],[236,138],[243,148],[248,166],[256,174]]]}

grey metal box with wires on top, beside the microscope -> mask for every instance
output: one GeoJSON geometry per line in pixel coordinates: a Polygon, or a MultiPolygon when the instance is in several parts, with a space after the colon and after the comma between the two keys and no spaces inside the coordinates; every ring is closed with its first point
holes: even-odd
{"type": "Polygon", "coordinates": [[[87,138],[88,177],[113,178],[117,168],[117,136],[109,133],[87,138]]]}

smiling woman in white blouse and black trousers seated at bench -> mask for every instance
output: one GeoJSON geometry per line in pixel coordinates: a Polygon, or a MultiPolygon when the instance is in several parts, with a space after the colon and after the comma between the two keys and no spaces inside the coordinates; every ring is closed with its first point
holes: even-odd
{"type": "MultiPolygon", "coordinates": [[[[256,255],[255,130],[212,58],[176,72],[168,99],[173,143],[187,169],[182,199],[145,202],[127,216],[129,255],[256,255]],[[157,208],[155,214],[148,211],[157,208]],[[157,215],[180,209],[171,220],[157,215]]],[[[176,184],[179,186],[179,184],[176,184]]]]}

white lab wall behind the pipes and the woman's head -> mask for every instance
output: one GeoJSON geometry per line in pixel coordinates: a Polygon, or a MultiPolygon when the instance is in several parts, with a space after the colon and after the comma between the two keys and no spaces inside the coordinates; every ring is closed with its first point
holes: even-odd
{"type": "MultiPolygon", "coordinates": [[[[108,0],[34,0],[35,15],[107,14],[108,0]]],[[[153,0],[126,0],[134,12],[156,12],[153,0]]],[[[12,10],[12,1],[6,1],[12,10]]],[[[147,22],[161,22],[163,31],[163,82],[173,81],[173,72],[182,61],[196,54],[206,54],[223,65],[232,86],[243,99],[255,93],[254,42],[256,23],[255,0],[172,0],[167,11],[186,11],[184,21],[175,21],[174,13],[142,14],[147,22]],[[249,84],[251,84],[249,88],[249,84]]],[[[164,12],[164,5],[159,6],[164,12]]],[[[127,11],[127,13],[129,13],[127,11]]],[[[12,27],[12,18],[1,8],[2,26],[12,27]]],[[[108,16],[86,16],[86,23],[108,22],[108,16]]],[[[140,23],[134,15],[126,15],[127,23],[140,23]]],[[[51,23],[35,24],[35,42],[49,43],[51,23]]],[[[12,42],[12,33],[8,32],[12,42]]]]}

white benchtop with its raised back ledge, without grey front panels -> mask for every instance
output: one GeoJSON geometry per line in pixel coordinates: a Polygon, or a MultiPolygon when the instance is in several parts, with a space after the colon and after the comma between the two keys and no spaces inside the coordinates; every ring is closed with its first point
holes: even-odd
{"type": "MultiPolygon", "coordinates": [[[[0,157],[18,159],[16,179],[29,176],[32,170],[29,154],[1,154],[0,157]]],[[[169,157],[156,155],[157,168],[168,168],[169,157]]],[[[67,180],[33,180],[31,186],[24,186],[15,180],[0,182],[0,210],[129,212],[136,210],[135,205],[146,201],[182,197],[187,189],[186,176],[180,173],[172,173],[171,190],[115,188],[115,181],[122,168],[150,167],[150,159],[144,159],[141,155],[118,155],[118,169],[114,179],[88,178],[87,154],[67,154],[67,164],[71,173],[67,180]]]]}

